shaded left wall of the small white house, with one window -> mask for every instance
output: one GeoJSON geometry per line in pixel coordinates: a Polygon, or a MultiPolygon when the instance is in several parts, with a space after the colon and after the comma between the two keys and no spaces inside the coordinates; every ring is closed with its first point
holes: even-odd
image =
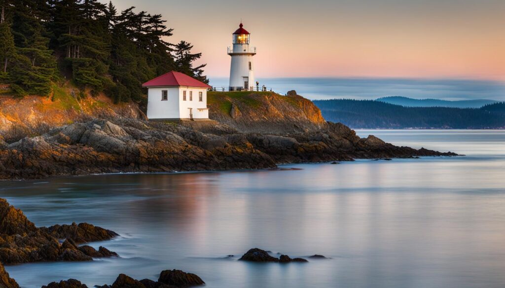
{"type": "Polygon", "coordinates": [[[179,119],[179,87],[151,87],[147,90],[147,118],[179,119]],[[162,90],[168,91],[168,100],[162,101],[162,90]]]}

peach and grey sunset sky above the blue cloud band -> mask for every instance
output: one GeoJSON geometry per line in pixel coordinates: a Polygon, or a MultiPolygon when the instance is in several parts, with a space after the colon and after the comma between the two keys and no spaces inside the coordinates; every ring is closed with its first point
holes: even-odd
{"type": "MultiPolygon", "coordinates": [[[[108,2],[107,0],[100,0],[108,2]]],[[[257,78],[466,79],[505,82],[503,0],[113,0],[162,14],[202,52],[212,79],[229,76],[240,21],[257,47],[257,78]]],[[[481,97],[482,98],[482,97],[481,97]]]]}

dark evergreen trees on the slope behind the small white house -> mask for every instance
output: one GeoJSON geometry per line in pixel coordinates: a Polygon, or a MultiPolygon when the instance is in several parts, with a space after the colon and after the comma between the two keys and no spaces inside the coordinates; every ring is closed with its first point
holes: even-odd
{"type": "Polygon", "coordinates": [[[0,0],[0,82],[17,95],[47,95],[71,79],[115,102],[140,101],[141,84],[169,71],[208,83],[201,53],[186,41],[172,44],[173,29],[160,14],[120,13],[97,0],[0,0]]]}

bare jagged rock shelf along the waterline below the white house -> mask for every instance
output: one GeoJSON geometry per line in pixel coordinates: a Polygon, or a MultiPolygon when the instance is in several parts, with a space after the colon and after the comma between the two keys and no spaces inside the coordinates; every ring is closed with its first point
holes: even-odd
{"type": "MultiPolygon", "coordinates": [[[[276,163],[456,155],[397,147],[374,136],[360,138],[342,124],[327,123],[319,130],[285,135],[243,134],[225,125],[210,124],[209,129],[200,126],[201,131],[196,131],[134,119],[74,123],[0,146],[0,179],[273,168],[276,163]],[[207,130],[212,133],[205,133],[207,130]]],[[[62,229],[53,227],[56,233],[62,229]]]]}

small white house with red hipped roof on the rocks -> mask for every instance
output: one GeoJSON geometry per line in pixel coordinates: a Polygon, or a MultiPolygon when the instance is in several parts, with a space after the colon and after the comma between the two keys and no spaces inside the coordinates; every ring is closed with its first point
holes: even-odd
{"type": "Polygon", "coordinates": [[[169,72],[142,84],[147,87],[149,120],[209,120],[207,89],[184,73],[169,72]]]}

